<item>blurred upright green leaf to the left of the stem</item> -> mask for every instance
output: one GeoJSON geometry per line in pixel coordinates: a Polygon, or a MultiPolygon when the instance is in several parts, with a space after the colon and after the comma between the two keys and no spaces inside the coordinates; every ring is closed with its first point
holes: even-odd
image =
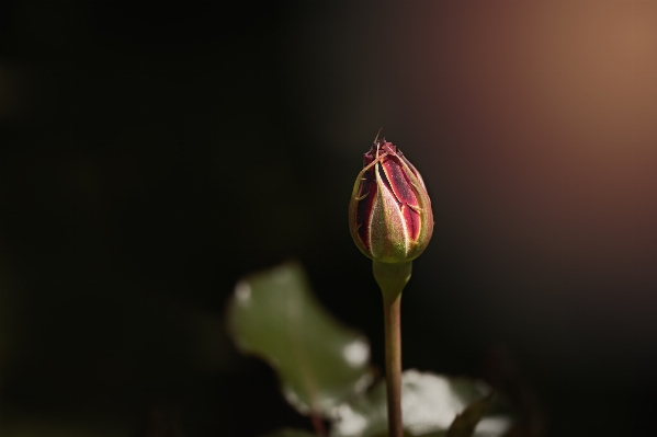
{"type": "Polygon", "coordinates": [[[372,381],[367,341],[320,307],[295,263],[239,281],[228,329],[243,353],[276,370],[284,396],[302,414],[328,416],[372,381]]]}

